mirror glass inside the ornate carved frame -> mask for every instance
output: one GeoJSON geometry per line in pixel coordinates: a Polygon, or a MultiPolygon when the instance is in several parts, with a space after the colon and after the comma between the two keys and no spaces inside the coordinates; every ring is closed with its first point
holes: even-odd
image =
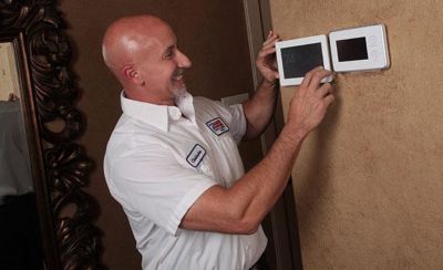
{"type": "Polygon", "coordinates": [[[43,251],[12,42],[0,43],[0,269],[43,269],[43,251]]]}

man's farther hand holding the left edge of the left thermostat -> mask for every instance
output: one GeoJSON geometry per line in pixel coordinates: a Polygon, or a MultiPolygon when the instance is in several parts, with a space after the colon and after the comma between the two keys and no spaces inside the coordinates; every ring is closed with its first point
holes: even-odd
{"type": "Polygon", "coordinates": [[[264,42],[261,50],[256,59],[256,66],[260,71],[267,83],[274,84],[278,79],[277,60],[276,60],[276,42],[280,41],[278,34],[269,31],[267,40],[264,42]]]}

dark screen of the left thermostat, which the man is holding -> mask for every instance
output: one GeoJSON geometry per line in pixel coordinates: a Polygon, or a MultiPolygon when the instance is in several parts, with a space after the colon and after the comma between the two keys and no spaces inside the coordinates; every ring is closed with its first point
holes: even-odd
{"type": "Polygon", "coordinates": [[[284,48],[281,59],[286,79],[302,77],[313,68],[323,65],[321,43],[284,48]]]}

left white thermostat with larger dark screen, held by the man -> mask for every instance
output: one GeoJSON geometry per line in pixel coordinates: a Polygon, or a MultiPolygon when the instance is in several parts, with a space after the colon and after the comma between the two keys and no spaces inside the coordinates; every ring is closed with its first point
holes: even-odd
{"type": "MultiPolygon", "coordinates": [[[[277,42],[276,54],[282,86],[301,84],[305,74],[316,66],[331,70],[328,38],[324,34],[277,42]]],[[[322,80],[330,81],[332,75],[322,80]]]]}

